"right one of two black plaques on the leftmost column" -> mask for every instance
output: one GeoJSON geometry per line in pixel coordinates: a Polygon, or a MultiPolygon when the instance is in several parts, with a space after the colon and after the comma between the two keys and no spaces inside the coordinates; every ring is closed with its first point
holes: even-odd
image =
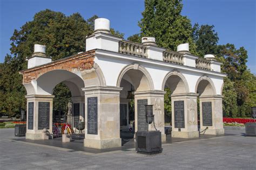
{"type": "Polygon", "coordinates": [[[50,129],[50,102],[38,102],[38,130],[50,129]]]}

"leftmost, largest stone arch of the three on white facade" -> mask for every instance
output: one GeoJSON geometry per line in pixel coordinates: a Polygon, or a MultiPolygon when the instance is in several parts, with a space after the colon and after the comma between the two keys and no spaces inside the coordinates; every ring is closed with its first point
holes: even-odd
{"type": "MultiPolygon", "coordinates": [[[[139,72],[137,72],[137,73],[139,73],[139,72]]],[[[133,84],[136,84],[136,85],[133,85],[133,86],[135,86],[134,88],[136,88],[136,89],[137,88],[142,89],[141,88],[142,84],[144,84],[145,86],[147,86],[144,89],[154,90],[154,84],[153,84],[153,80],[152,80],[150,73],[147,72],[145,67],[140,66],[138,63],[133,63],[131,65],[127,65],[122,69],[122,71],[118,75],[117,87],[120,87],[120,84],[121,84],[121,81],[123,78],[125,78],[126,81],[133,82],[133,84]],[[141,79],[140,84],[134,83],[132,78],[126,75],[127,73],[132,72],[131,70],[138,70],[139,72],[142,73],[142,77],[140,77],[140,79],[141,79]]]]}

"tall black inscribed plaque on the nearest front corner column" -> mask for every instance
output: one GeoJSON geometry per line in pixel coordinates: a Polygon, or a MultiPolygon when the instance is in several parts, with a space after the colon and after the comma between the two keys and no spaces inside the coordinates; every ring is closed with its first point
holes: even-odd
{"type": "Polygon", "coordinates": [[[98,97],[87,98],[87,133],[98,134],[98,97]]]}

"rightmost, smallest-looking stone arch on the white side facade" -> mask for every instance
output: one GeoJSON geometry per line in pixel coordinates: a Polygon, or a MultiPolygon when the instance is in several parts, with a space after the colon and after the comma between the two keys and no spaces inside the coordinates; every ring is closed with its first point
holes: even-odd
{"type": "Polygon", "coordinates": [[[216,95],[216,89],[212,80],[207,76],[201,76],[196,84],[196,93],[200,96],[216,95]]]}

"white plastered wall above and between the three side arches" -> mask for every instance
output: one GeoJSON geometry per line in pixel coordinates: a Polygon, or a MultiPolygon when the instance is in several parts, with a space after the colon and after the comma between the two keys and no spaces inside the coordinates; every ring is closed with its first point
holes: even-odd
{"type": "Polygon", "coordinates": [[[102,69],[106,81],[106,86],[117,86],[117,80],[120,72],[122,72],[122,70],[126,66],[131,65],[133,63],[137,63],[138,65],[143,66],[147,70],[147,72],[149,72],[153,81],[154,90],[163,90],[163,81],[166,75],[170,72],[176,71],[185,77],[190,93],[197,93],[197,82],[200,79],[200,77],[206,75],[209,79],[212,80],[214,87],[216,89],[216,94],[221,95],[221,86],[223,84],[222,76],[214,76],[202,72],[191,72],[185,69],[172,68],[171,66],[162,67],[140,61],[134,62],[132,60],[107,58],[103,55],[96,55],[95,62],[102,69]]]}

